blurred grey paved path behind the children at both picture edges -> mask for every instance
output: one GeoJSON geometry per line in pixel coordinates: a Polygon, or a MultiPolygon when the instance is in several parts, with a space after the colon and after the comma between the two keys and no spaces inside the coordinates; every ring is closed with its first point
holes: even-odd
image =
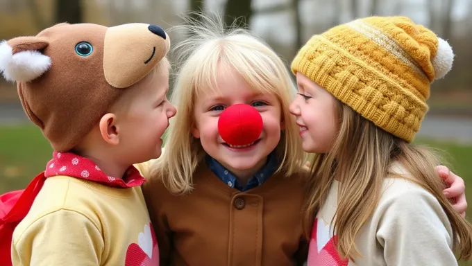
{"type": "MultiPolygon", "coordinates": [[[[30,123],[18,103],[0,103],[0,125],[30,123]]],[[[472,118],[426,116],[417,136],[472,144],[472,118]]]]}

